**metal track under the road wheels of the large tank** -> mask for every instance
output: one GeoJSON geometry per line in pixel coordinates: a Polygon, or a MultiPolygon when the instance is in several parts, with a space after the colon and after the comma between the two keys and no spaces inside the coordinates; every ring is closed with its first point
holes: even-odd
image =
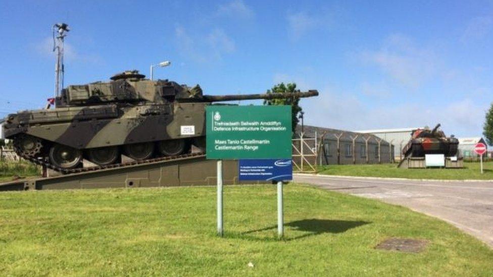
{"type": "Polygon", "coordinates": [[[109,164],[109,165],[104,165],[104,166],[79,168],[79,169],[63,169],[63,168],[56,167],[55,165],[50,163],[47,158],[35,158],[35,157],[27,156],[23,153],[17,153],[17,154],[21,158],[28,160],[34,164],[40,165],[41,167],[45,167],[47,169],[51,169],[51,170],[60,172],[62,174],[74,174],[74,173],[83,173],[83,172],[89,172],[89,171],[122,168],[122,167],[127,167],[129,165],[153,163],[153,162],[164,161],[164,160],[174,160],[174,159],[180,159],[180,158],[198,157],[198,156],[204,155],[205,153],[204,152],[189,153],[189,154],[183,154],[183,155],[177,155],[177,156],[166,156],[166,157],[146,159],[146,160],[142,160],[142,161],[128,161],[128,162],[115,163],[115,164],[109,164]]]}

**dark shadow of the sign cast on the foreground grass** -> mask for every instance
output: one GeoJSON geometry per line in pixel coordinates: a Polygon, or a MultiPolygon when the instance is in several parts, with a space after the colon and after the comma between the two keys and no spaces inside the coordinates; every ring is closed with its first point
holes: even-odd
{"type": "MultiPolygon", "coordinates": [[[[287,230],[285,230],[284,233],[289,232],[289,230],[293,230],[293,231],[305,232],[306,234],[293,238],[286,238],[284,240],[285,241],[298,240],[298,239],[320,235],[324,233],[339,234],[346,232],[350,229],[357,228],[359,226],[370,224],[370,223],[371,222],[367,222],[367,221],[331,220],[331,219],[316,219],[316,218],[296,220],[284,224],[285,227],[290,227],[287,228],[287,230]]],[[[242,237],[242,238],[261,240],[261,241],[277,240],[277,238],[257,238],[257,237],[248,236],[249,234],[260,233],[274,229],[277,229],[277,225],[243,232],[235,237],[242,237]]]]}

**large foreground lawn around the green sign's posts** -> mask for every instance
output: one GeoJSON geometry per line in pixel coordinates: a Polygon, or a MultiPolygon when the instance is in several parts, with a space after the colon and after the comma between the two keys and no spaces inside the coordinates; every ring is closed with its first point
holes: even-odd
{"type": "Polygon", "coordinates": [[[484,275],[493,250],[407,208],[304,185],[0,193],[1,275],[484,275]],[[424,239],[421,253],[376,250],[424,239]],[[252,262],[254,267],[248,266],[252,262]]]}

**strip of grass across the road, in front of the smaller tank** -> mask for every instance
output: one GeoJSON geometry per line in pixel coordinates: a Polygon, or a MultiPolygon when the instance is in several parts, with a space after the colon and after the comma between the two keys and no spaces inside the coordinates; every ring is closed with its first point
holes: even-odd
{"type": "Polygon", "coordinates": [[[479,162],[464,162],[463,169],[398,169],[397,163],[334,164],[319,168],[319,174],[325,175],[435,180],[493,180],[493,161],[483,162],[483,172],[481,174],[479,162]]]}

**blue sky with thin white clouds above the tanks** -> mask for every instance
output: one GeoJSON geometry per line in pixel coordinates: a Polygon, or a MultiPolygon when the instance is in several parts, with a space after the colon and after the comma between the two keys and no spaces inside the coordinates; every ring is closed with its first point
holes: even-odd
{"type": "Polygon", "coordinates": [[[441,123],[481,134],[493,95],[493,1],[2,1],[0,116],[53,94],[51,27],[65,22],[66,84],[126,69],[258,93],[318,89],[306,124],[348,130],[441,123]]]}

